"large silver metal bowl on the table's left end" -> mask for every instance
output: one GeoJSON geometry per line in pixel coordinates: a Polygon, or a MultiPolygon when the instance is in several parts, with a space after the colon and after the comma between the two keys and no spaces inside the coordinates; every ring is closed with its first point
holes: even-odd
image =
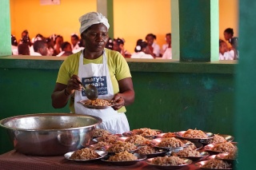
{"type": "Polygon", "coordinates": [[[27,155],[64,155],[90,144],[99,117],[70,113],[37,113],[0,121],[14,148],[27,155]]]}

